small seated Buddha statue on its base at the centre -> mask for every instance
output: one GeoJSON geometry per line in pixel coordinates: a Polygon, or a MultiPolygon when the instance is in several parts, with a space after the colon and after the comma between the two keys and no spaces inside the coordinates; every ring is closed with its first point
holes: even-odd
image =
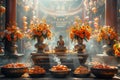
{"type": "Polygon", "coordinates": [[[63,36],[59,36],[59,41],[57,41],[57,47],[55,47],[55,52],[66,52],[66,47],[64,46],[63,36]]]}

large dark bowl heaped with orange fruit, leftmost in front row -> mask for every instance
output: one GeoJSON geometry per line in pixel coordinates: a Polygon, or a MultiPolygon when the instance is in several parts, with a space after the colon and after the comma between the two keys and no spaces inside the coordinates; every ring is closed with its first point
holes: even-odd
{"type": "Polygon", "coordinates": [[[28,67],[24,63],[10,63],[1,67],[1,73],[5,77],[21,77],[28,72],[28,67]]]}

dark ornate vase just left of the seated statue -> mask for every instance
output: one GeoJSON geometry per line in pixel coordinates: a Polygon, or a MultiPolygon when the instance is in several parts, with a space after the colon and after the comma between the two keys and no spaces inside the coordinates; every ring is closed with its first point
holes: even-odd
{"type": "Polygon", "coordinates": [[[44,53],[45,44],[43,42],[44,42],[43,37],[37,38],[37,43],[35,44],[35,48],[37,48],[37,53],[44,53]]]}

